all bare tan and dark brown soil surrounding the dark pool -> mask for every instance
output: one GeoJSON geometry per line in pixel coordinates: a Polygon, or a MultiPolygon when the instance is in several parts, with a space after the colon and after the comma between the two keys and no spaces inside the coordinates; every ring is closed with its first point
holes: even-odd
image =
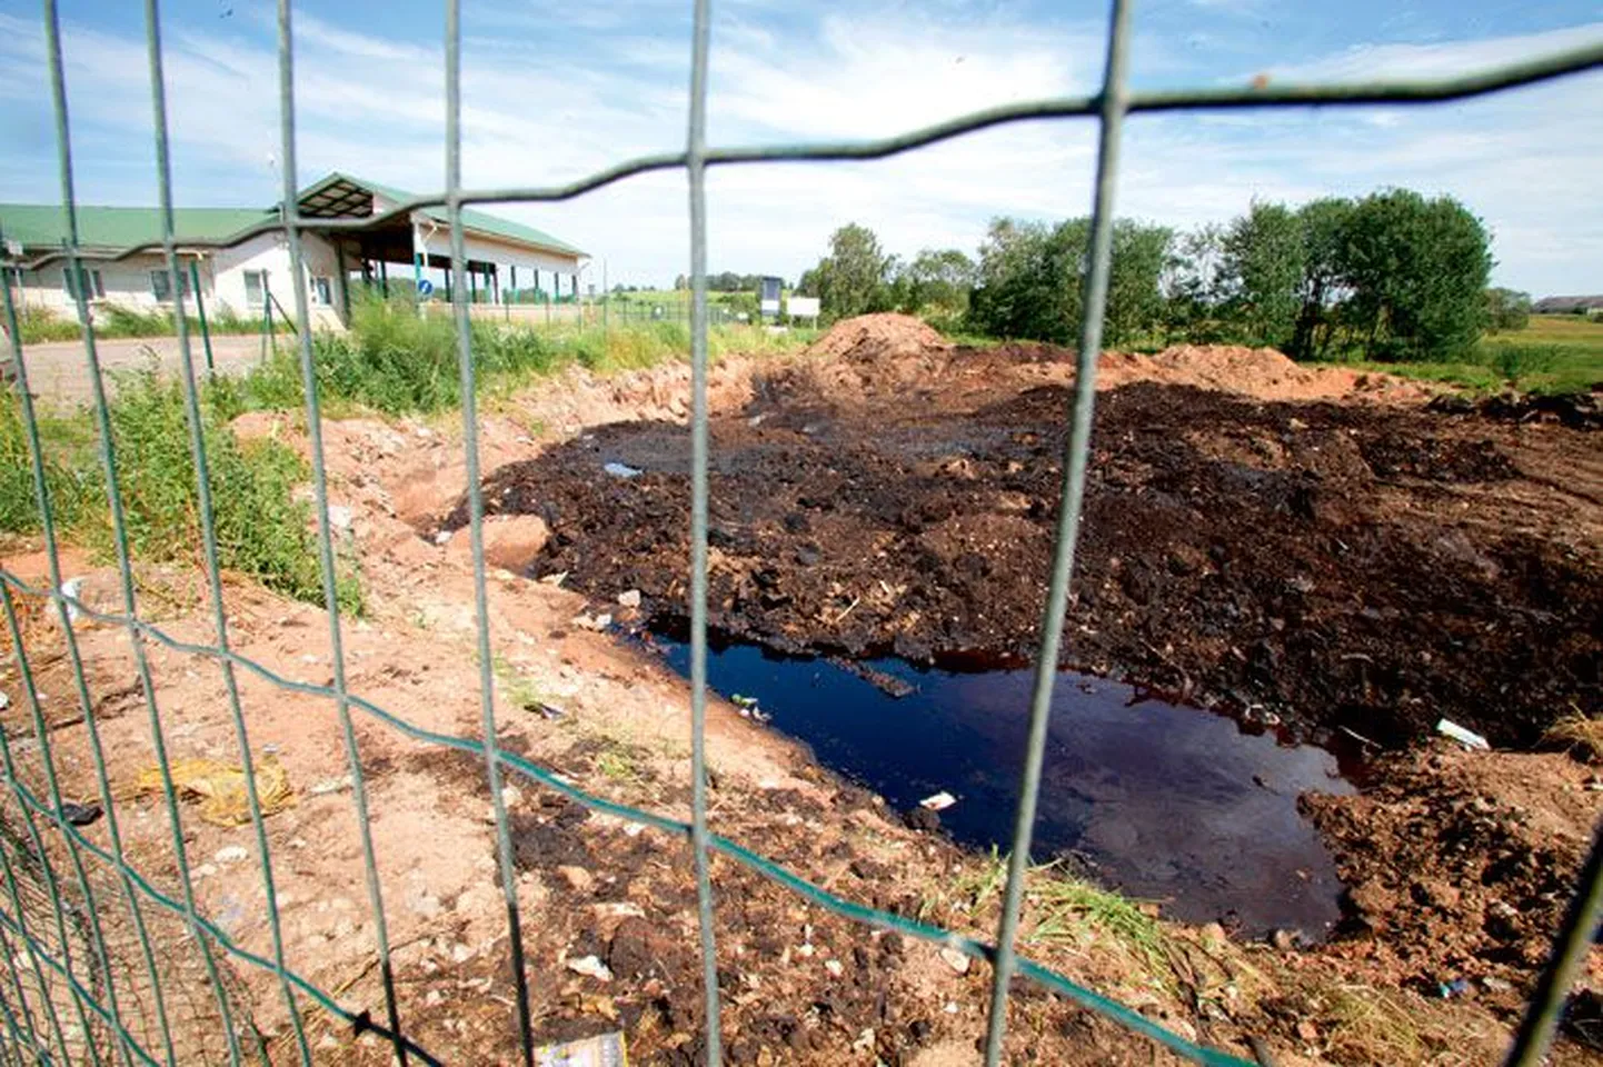
{"type": "MultiPolygon", "coordinates": [[[[790,649],[1028,655],[1072,380],[1063,356],[954,349],[917,324],[875,317],[795,359],[721,362],[712,383],[720,628],[790,649]]],[[[1101,397],[1068,660],[1388,745],[1449,715],[1523,748],[1560,711],[1597,710],[1595,437],[1427,412],[1415,386],[1310,372],[1265,351],[1111,354],[1103,365],[1112,388],[1101,397]]],[[[686,687],[659,658],[587,626],[601,612],[643,625],[683,610],[686,397],[678,365],[571,375],[502,401],[481,429],[500,513],[487,527],[499,740],[585,790],[675,817],[689,796],[686,687]],[[644,473],[611,477],[603,461],[644,473]],[[632,588],[644,593],[638,612],[617,604],[632,588]]],[[[253,415],[236,429],[305,447],[289,417],[253,415]]],[[[351,519],[341,553],[359,562],[367,601],[343,631],[349,687],[425,729],[478,737],[465,534],[438,537],[457,525],[457,434],[449,420],[324,423],[330,492],[351,519]]],[[[37,548],[6,546],[3,566],[42,583],[37,548]]],[[[87,601],[120,610],[104,561],[74,551],[64,566],[87,601]]],[[[136,578],[141,615],[181,641],[213,639],[192,567],[139,567],[136,578]]],[[[284,678],[330,681],[319,609],[239,578],[226,599],[240,655],[284,678]]],[[[37,601],[18,604],[63,790],[93,799],[63,633],[37,601]]],[[[128,638],[91,620],[75,636],[123,848],[176,896],[164,806],[135,788],[152,737],[128,638]]],[[[216,663],[147,650],[172,758],[237,759],[216,663]]],[[[16,668],[0,665],[10,697],[0,718],[18,774],[42,788],[16,668]]],[[[383,1021],[337,708],[248,671],[239,682],[252,747],[282,764],[297,796],[264,823],[287,964],[383,1021]]],[[[483,766],[361,710],[356,737],[404,1029],[442,1062],[518,1062],[483,766]]],[[[989,939],[987,857],[909,828],[723,702],[710,708],[709,763],[718,833],[850,900],[989,939]]],[[[622,1030],[630,1062],[701,1062],[684,843],[516,775],[508,783],[535,1038],[622,1030]]],[[[1085,907],[1044,924],[1045,897],[1032,894],[1023,952],[1244,1057],[1258,1046],[1278,1064],[1494,1062],[1597,815],[1595,783],[1565,753],[1411,745],[1371,759],[1358,796],[1308,804],[1353,888],[1335,940],[1246,944],[1162,920],[1156,942],[1132,940],[1085,907]],[[1439,982],[1459,977],[1462,992],[1443,1000],[1439,982]]],[[[8,804],[6,825],[19,819],[8,804]]],[[[199,908],[271,956],[250,827],[204,822],[186,804],[183,833],[199,908]]],[[[85,835],[107,846],[106,819],[85,835]]],[[[55,859],[71,870],[64,854],[55,859]]],[[[931,945],[840,920],[723,859],[712,876],[729,1062],[976,1061],[986,964],[954,966],[931,945]]],[[[96,889],[122,947],[119,990],[133,1014],[144,1008],[133,1029],[152,1041],[149,1000],[130,992],[141,964],[120,886],[103,873],[96,889]]],[[[178,1061],[226,1062],[192,944],[160,908],[146,915],[178,985],[168,995],[180,1005],[178,1061]]],[[[273,1062],[298,1062],[276,979],[239,961],[224,969],[273,1062]]],[[[316,1062],[390,1062],[375,1035],[305,998],[300,1008],[316,1062]]],[[[1589,1056],[1566,1040],[1553,1062],[1589,1056]]],[[[1007,1062],[1172,1059],[1020,984],[1007,1062]]]]}

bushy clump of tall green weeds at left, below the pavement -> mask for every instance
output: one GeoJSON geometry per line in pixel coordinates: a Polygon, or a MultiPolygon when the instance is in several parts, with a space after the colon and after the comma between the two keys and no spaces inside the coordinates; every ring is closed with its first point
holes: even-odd
{"type": "MultiPolygon", "coordinates": [[[[218,562],[285,596],[321,604],[311,511],[293,498],[293,489],[308,477],[305,463],[277,442],[240,442],[210,397],[202,425],[218,562]]],[[[144,561],[199,562],[200,500],[181,386],[151,372],[120,375],[111,426],[130,551],[144,561]]],[[[90,415],[42,415],[40,439],[58,530],[109,558],[111,514],[90,415]]],[[[0,534],[37,534],[40,516],[21,402],[10,391],[0,401],[0,534]]],[[[338,593],[348,610],[361,610],[351,566],[338,578],[338,593]]]]}

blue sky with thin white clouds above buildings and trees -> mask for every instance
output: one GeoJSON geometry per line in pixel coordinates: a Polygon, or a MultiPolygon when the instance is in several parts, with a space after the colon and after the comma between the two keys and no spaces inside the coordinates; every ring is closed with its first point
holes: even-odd
{"type": "MultiPolygon", "coordinates": [[[[155,203],[143,6],[59,0],[77,194],[155,203]]],[[[678,151],[689,0],[463,0],[463,178],[566,183],[678,151]]],[[[1092,93],[1108,6],[1084,0],[712,0],[709,143],[898,133],[975,107],[1092,93]]],[[[59,200],[37,0],[0,0],[0,200],[59,200]]],[[[1135,0],[1133,88],[1430,77],[1603,40],[1598,0],[1135,0]]],[[[276,8],[167,0],[176,202],[277,200],[276,8]]],[[[442,5],[295,10],[301,186],[330,170],[444,187],[442,5]]],[[[1603,70],[1435,107],[1138,115],[1117,211],[1175,227],[1254,199],[1387,186],[1451,194],[1494,239],[1494,282],[1603,292],[1603,70]]],[[[1031,122],[872,163],[709,171],[712,271],[795,279],[846,223],[911,258],[975,253],[995,216],[1090,210],[1095,123],[1031,122]]],[[[686,179],[494,205],[593,256],[587,284],[665,285],[689,264],[686,179]]]]}

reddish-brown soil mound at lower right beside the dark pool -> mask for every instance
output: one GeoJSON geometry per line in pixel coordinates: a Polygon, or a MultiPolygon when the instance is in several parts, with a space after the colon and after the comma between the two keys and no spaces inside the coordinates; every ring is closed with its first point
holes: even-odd
{"type": "Polygon", "coordinates": [[[1382,761],[1361,796],[1305,795],[1350,886],[1348,929],[1324,952],[1425,995],[1467,979],[1513,1016],[1563,921],[1600,785],[1561,753],[1443,743],[1382,761]]]}

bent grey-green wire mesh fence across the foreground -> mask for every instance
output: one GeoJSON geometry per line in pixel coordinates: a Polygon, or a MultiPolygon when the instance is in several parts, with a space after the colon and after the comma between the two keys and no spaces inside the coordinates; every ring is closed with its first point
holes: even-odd
{"type": "MultiPolygon", "coordinates": [[[[495,715],[495,650],[492,644],[492,609],[487,594],[484,548],[484,495],[481,490],[481,442],[476,410],[474,333],[470,304],[474,296],[463,285],[452,293],[452,322],[457,346],[457,375],[462,397],[462,458],[466,468],[466,525],[473,564],[476,647],[476,684],[481,708],[479,732],[458,735],[423,726],[414,718],[382,707],[353,686],[345,654],[345,604],[341,601],[341,553],[338,524],[330,509],[327,461],[324,455],[322,412],[319,405],[317,348],[313,343],[313,316],[308,304],[306,263],[301,252],[303,218],[297,200],[297,136],[293,48],[295,34],[289,0],[277,5],[279,56],[279,120],[282,194],[279,216],[268,219],[226,242],[189,240],[186,248],[224,248],[258,234],[282,234],[293,264],[295,351],[305,396],[313,509],[316,516],[317,583],[324,607],[329,649],[325,684],[297,681],[282,665],[240,655],[231,642],[231,614],[224,596],[224,569],[220,562],[220,530],[213,498],[215,442],[205,431],[200,385],[194,372],[191,336],[184,317],[183,264],[173,224],[172,163],[168,157],[168,115],[162,67],[160,11],[157,0],[146,0],[146,46],[151,74],[152,130],[160,189],[162,239],[115,253],[98,253],[80,247],[77,200],[74,194],[72,127],[67,114],[67,87],[61,61],[61,32],[55,0],[43,3],[43,34],[48,51],[48,74],[59,160],[61,203],[67,219],[67,240],[59,253],[43,263],[63,263],[71,276],[83,277],[83,263],[125,260],[138,253],[159,253],[168,272],[168,292],[176,303],[178,344],[183,351],[181,389],[197,481],[197,521],[200,543],[196,558],[202,564],[204,582],[197,602],[205,606],[210,633],[157,623],[141,612],[136,599],[131,535],[119,485],[122,473],[107,393],[95,346],[95,324],[90,316],[87,285],[75,287],[75,311],[83,336],[83,356],[93,383],[95,429],[109,514],[109,550],[117,566],[117,586],[109,599],[82,594],[64,582],[63,546],[55,519],[59,501],[53,500],[50,460],[42,445],[40,415],[29,391],[27,357],[18,330],[18,309],[6,279],[5,322],[11,338],[10,359],[14,367],[26,431],[32,493],[42,524],[46,569],[43,578],[27,580],[11,570],[0,570],[0,596],[5,601],[5,647],[22,681],[24,700],[13,708],[0,731],[5,796],[0,798],[0,1009],[5,1037],[0,1057],[6,1062],[40,1064],[189,1064],[189,1062],[313,1062],[317,1054],[317,1021],[337,1021],[357,1033],[377,1035],[401,1062],[439,1062],[449,1049],[426,1049],[409,1037],[409,1011],[398,992],[391,942],[386,924],[396,907],[399,888],[380,876],[380,846],[372,833],[373,812],[369,807],[367,779],[375,761],[364,745],[382,747],[367,739],[382,734],[402,735],[447,755],[460,755],[483,779],[491,801],[489,822],[495,831],[495,868],[505,899],[505,929],[497,942],[510,969],[513,998],[505,1025],[515,1033],[524,1064],[535,1062],[535,1001],[545,993],[531,988],[524,958],[524,931],[516,881],[516,848],[507,788],[527,782],[588,811],[614,815],[649,830],[683,838],[691,846],[694,865],[696,926],[699,931],[701,995],[705,1003],[702,1049],[709,1064],[723,1062],[720,1033],[720,971],[713,939],[713,923],[720,902],[710,878],[712,857],[725,860],[769,880],[803,902],[846,920],[883,931],[933,942],[963,956],[992,964],[989,1027],[984,1061],[1000,1062],[1003,1056],[1008,1000],[1015,976],[1058,993],[1098,1016],[1112,1021],[1133,1035],[1199,1064],[1242,1064],[1225,1051],[1207,1048],[1116,1000],[1016,955],[1015,940],[1024,894],[1036,799],[1040,791],[1042,756],[1050,713],[1050,689],[1060,662],[1064,612],[1074,572],[1079,535],[1088,439],[1095,404],[1096,352],[1101,343],[1103,311],[1108,298],[1111,229],[1117,191],[1119,136],[1125,117],[1141,112],[1257,109],[1305,106],[1363,104],[1430,104],[1496,93],[1566,74],[1603,67],[1603,43],[1557,53],[1484,70],[1465,70],[1456,77],[1419,82],[1374,82],[1361,85],[1268,85],[1210,87],[1162,93],[1137,93],[1129,88],[1127,54],[1135,14],[1130,0],[1114,0],[1106,38],[1103,88],[1095,96],[1040,99],[1005,107],[976,111],[899,136],[870,141],[810,143],[765,147],[712,147],[707,144],[707,77],[715,62],[710,56],[710,0],[694,0],[694,30],[688,53],[689,107],[686,143],[681,152],[646,155],[559,186],[527,186],[503,189],[471,189],[462,184],[462,58],[460,0],[444,5],[446,56],[446,176],[442,192],[414,197],[369,218],[327,219],[319,226],[332,231],[359,232],[373,229],[420,208],[444,208],[449,216],[450,261],[455,277],[468,268],[463,208],[487,202],[556,202],[593,192],[612,183],[651,171],[683,170],[689,186],[689,300],[688,304],[612,308],[606,314],[622,324],[627,317],[646,320],[688,320],[691,338],[691,572],[688,575],[688,617],[691,647],[691,817],[670,817],[656,811],[622,804],[590,793],[566,777],[519,755],[502,743],[495,715]],[[1095,194],[1092,203],[1090,269],[1084,288],[1084,322],[1080,324],[1079,373],[1066,450],[1061,457],[1061,505],[1047,599],[1042,604],[1040,646],[1036,655],[1034,694],[1029,705],[1029,740],[1021,769],[1020,806],[1013,831],[1007,880],[1002,889],[1002,916],[994,944],[955,934],[915,921],[906,915],[854,902],[827,884],[814,884],[771,862],[760,851],[745,848],[715,833],[709,823],[705,767],[707,710],[707,569],[709,569],[709,352],[710,317],[728,314],[709,311],[707,296],[707,187],[710,167],[745,163],[798,163],[827,160],[877,160],[978,130],[1042,119],[1095,119],[1100,127],[1095,194]],[[122,711],[136,710],[144,721],[154,751],[154,771],[144,793],[159,798],[157,817],[170,838],[170,856],[151,857],[130,852],[123,844],[119,822],[127,817],[128,793],[109,774],[109,756],[101,743],[99,726],[107,716],[106,692],[96,692],[79,649],[77,633],[88,625],[112,626],[127,636],[136,684],[114,694],[122,711]],[[46,633],[59,634],[61,650],[45,652],[46,633]],[[221,913],[205,913],[197,904],[196,880],[212,864],[191,864],[189,843],[194,827],[186,827],[181,795],[199,787],[186,785],[189,767],[168,758],[170,732],[160,707],[162,687],[151,666],[151,654],[178,655],[196,671],[212,671],[218,679],[216,700],[226,707],[232,750],[234,825],[248,827],[252,849],[239,849],[229,862],[252,860],[260,870],[260,889],[250,902],[236,902],[221,913]],[[45,663],[42,657],[50,657],[45,663]],[[46,702],[38,695],[35,674],[40,670],[61,671],[71,678],[72,697],[67,703],[46,702]],[[353,815],[357,827],[356,854],[364,872],[362,884],[349,892],[364,899],[353,920],[370,940],[378,992],[372,1003],[351,1000],[348,987],[314,982],[289,964],[285,956],[284,896],[276,881],[287,860],[284,844],[276,843],[266,817],[284,803],[274,782],[274,761],[252,739],[253,721],[244,691],[245,684],[261,686],[276,694],[313,697],[338,723],[341,751],[338,761],[348,777],[353,815]],[[55,748],[55,735],[67,719],[85,726],[85,745],[71,756],[72,780],[64,782],[64,756],[55,748]],[[361,719],[361,727],[357,726],[361,719]],[[367,729],[378,734],[364,732],[367,729]],[[71,791],[69,791],[71,790],[71,791]],[[93,828],[88,828],[96,823],[93,828]],[[244,856],[240,856],[240,852],[244,856]],[[240,931],[248,926],[242,910],[260,908],[260,929],[253,939],[240,931]],[[248,944],[247,944],[248,940],[248,944]],[[255,947],[250,947],[255,945],[255,947]],[[277,1003],[264,1003],[247,995],[240,974],[245,971],[271,976],[277,1003]],[[282,1021],[277,1040],[261,1037],[256,1019],[282,1021]]],[[[42,87],[43,88],[43,87],[42,87]]],[[[3,236],[0,236],[3,237],[3,236]]],[[[199,288],[196,288],[199,293],[199,288]]],[[[585,314],[595,317],[598,309],[585,314]]],[[[53,649],[53,644],[51,644],[53,649]]],[[[120,713],[120,711],[119,711],[120,713]]],[[[115,753],[112,753],[115,755],[115,753]]],[[[221,787],[213,788],[215,799],[221,787]]],[[[136,819],[151,814],[141,811],[136,819]]],[[[303,843],[305,844],[305,843],[303,843]]],[[[1582,872],[1569,918],[1557,939],[1547,971],[1532,997],[1524,1025],[1520,1029],[1510,1064],[1536,1064],[1544,1056],[1558,1013],[1585,947],[1598,923],[1600,884],[1603,884],[1603,836],[1592,846],[1582,872]]],[[[415,1009],[412,1009],[415,1011],[415,1009]]]]}

